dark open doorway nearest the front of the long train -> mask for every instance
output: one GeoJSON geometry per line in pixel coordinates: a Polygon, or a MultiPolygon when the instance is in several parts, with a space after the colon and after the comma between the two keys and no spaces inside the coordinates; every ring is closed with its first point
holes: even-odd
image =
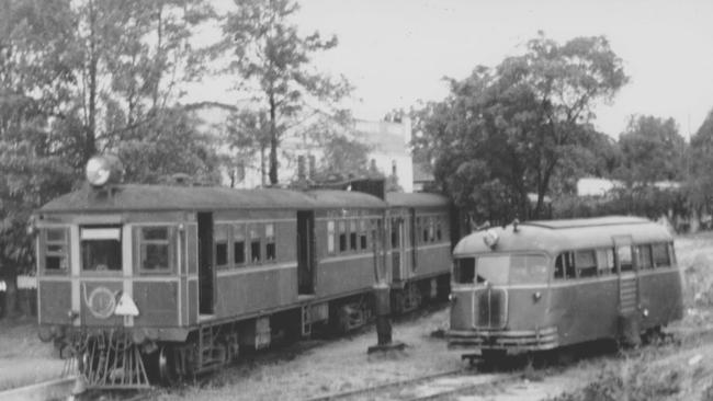
{"type": "Polygon", "coordinates": [[[215,268],[213,266],[213,214],[199,213],[199,313],[213,314],[215,268]]]}

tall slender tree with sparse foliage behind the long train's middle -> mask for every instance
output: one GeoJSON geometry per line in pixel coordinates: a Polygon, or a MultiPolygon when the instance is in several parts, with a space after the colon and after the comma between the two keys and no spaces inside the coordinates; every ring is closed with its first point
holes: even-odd
{"type": "Polygon", "coordinates": [[[343,78],[335,80],[314,71],[310,58],[337,45],[315,32],[302,36],[290,19],[298,10],[291,0],[235,0],[223,26],[217,53],[231,51],[228,71],[244,80],[239,88],[254,95],[268,114],[270,183],[278,183],[278,149],[282,136],[304,113],[319,113],[315,104],[329,106],[350,91],[343,78]]]}

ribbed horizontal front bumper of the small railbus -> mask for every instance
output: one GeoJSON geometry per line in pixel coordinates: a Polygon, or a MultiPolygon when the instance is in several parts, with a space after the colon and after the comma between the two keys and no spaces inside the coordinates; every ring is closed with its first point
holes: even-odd
{"type": "Polygon", "coordinates": [[[449,330],[449,348],[508,350],[512,352],[544,351],[559,345],[557,328],[535,330],[449,330]]]}

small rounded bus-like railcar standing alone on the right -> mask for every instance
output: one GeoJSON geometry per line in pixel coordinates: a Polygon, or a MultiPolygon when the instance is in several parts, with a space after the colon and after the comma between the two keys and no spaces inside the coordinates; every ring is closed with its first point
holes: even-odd
{"type": "Polygon", "coordinates": [[[485,358],[638,342],[681,319],[681,286],[674,239],[649,220],[516,221],[455,247],[448,342],[485,358]]]}

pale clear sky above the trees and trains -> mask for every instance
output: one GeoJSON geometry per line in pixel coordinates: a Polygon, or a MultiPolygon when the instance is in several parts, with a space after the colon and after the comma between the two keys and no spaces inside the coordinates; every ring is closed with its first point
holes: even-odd
{"type": "MultiPolygon", "coordinates": [[[[522,54],[539,31],[559,43],[604,35],[622,58],[630,82],[610,104],[596,107],[593,121],[614,138],[631,115],[672,117],[688,138],[713,108],[713,0],[299,3],[295,22],[305,33],[339,38],[314,62],[355,87],[349,105],[358,118],[381,119],[419,101],[443,100],[443,77],[464,79],[478,65],[495,67],[522,54]]],[[[215,96],[216,90],[206,93],[215,96]]]]}

